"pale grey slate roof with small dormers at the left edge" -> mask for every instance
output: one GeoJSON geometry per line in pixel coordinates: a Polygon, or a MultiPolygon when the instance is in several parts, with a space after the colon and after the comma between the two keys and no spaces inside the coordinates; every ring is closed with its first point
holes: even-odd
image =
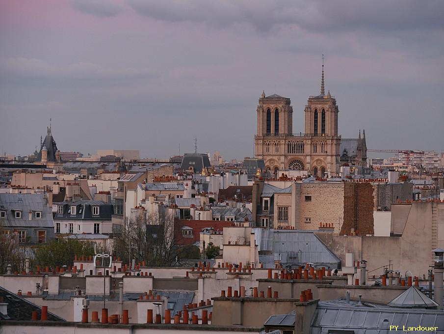
{"type": "Polygon", "coordinates": [[[0,207],[6,210],[4,225],[9,227],[49,227],[53,228],[52,208],[43,194],[0,194],[0,207]],[[22,211],[22,218],[15,218],[15,211],[22,211]],[[29,220],[29,211],[32,219],[29,220]],[[36,219],[35,212],[42,212],[42,218],[36,219]]]}

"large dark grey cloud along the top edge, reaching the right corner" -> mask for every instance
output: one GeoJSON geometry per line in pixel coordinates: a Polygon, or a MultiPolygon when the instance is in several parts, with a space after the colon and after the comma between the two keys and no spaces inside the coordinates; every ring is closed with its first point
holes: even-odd
{"type": "Polygon", "coordinates": [[[313,31],[350,29],[443,29],[442,0],[127,0],[140,15],[168,22],[199,22],[213,28],[248,24],[268,31],[295,26],[313,31]]]}

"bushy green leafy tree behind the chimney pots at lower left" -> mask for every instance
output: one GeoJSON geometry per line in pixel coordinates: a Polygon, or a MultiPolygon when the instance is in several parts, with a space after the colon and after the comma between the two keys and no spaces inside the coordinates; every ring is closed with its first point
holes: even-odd
{"type": "Polygon", "coordinates": [[[72,266],[74,255],[94,255],[92,242],[76,239],[54,239],[40,244],[35,252],[35,262],[41,266],[72,266]]]}

